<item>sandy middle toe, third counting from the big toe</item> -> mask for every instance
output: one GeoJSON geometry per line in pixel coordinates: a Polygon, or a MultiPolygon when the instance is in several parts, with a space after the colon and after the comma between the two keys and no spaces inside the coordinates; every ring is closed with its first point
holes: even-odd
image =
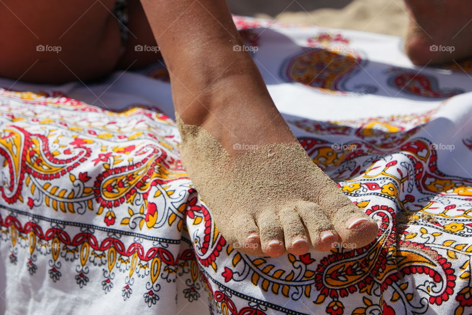
{"type": "Polygon", "coordinates": [[[309,250],[309,238],[306,235],[305,226],[295,207],[287,208],[279,215],[284,229],[285,247],[294,255],[302,255],[309,250]]]}

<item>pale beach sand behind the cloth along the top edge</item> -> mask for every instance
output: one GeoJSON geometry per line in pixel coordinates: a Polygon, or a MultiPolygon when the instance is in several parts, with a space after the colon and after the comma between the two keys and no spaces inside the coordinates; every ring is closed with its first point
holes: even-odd
{"type": "Polygon", "coordinates": [[[232,13],[280,22],[404,36],[403,0],[228,0],[232,13]]]}

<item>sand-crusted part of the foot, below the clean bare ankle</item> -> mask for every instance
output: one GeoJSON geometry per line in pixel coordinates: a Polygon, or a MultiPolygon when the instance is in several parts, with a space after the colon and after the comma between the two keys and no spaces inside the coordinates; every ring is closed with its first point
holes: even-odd
{"type": "Polygon", "coordinates": [[[204,128],[178,116],[177,126],[182,163],[217,228],[239,252],[279,256],[285,252],[271,251],[279,247],[301,254],[307,244],[328,251],[337,242],[359,248],[377,236],[377,229],[365,228],[373,220],[299,143],[271,143],[232,156],[204,128]]]}

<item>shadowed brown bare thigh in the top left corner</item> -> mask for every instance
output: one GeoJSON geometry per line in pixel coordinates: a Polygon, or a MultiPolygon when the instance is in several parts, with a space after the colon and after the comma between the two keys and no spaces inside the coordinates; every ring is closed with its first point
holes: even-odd
{"type": "Polygon", "coordinates": [[[113,70],[120,37],[114,0],[4,0],[0,76],[62,83],[113,70]]]}

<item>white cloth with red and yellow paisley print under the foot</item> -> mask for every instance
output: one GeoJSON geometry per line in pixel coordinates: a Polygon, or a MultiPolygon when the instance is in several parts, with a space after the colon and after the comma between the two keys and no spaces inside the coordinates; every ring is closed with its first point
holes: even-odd
{"type": "Polygon", "coordinates": [[[160,63],[89,87],[1,80],[0,313],[470,314],[471,62],[418,68],[397,37],[235,21],[377,240],[228,246],[180,164],[160,63]]]}

